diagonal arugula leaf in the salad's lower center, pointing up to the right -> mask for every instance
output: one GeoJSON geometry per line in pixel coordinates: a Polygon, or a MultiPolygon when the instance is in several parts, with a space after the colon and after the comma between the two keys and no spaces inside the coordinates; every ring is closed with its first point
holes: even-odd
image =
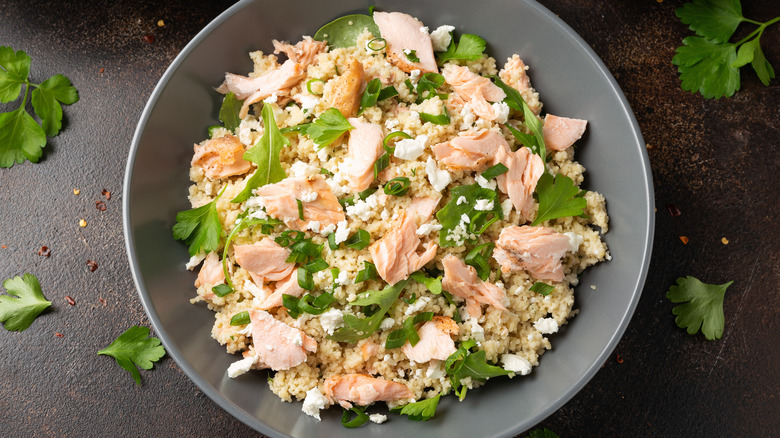
{"type": "Polygon", "coordinates": [[[355,343],[360,339],[365,339],[371,336],[379,326],[382,324],[382,318],[390,310],[390,307],[395,304],[401,292],[406,287],[406,283],[409,280],[399,281],[393,286],[387,286],[380,291],[367,291],[361,294],[357,300],[351,302],[350,306],[379,306],[379,308],[371,315],[365,318],[358,318],[354,315],[344,315],[344,327],[336,330],[333,335],[328,336],[328,339],[332,339],[337,342],[349,342],[355,343]]]}

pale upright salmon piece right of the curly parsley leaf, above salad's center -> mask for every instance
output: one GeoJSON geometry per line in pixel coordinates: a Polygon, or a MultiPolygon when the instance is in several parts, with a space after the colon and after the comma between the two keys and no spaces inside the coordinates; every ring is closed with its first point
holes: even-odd
{"type": "Polygon", "coordinates": [[[385,152],[382,147],[382,127],[376,123],[349,119],[355,129],[349,130],[347,157],[344,160],[344,175],[353,192],[361,192],[374,180],[374,162],[385,152]]]}

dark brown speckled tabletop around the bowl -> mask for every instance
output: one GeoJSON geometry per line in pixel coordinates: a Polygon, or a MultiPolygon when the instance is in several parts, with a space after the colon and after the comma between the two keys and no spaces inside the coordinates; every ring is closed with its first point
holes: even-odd
{"type": "MultiPolygon", "coordinates": [[[[32,56],[34,81],[62,73],[81,95],[65,109],[65,129],[41,163],[0,169],[0,279],[35,274],[54,303],[25,332],[0,330],[2,436],[255,435],[169,358],[142,372],[138,387],[112,359],[95,355],[131,325],[149,324],[121,223],[135,125],[177,53],[231,3],[2,2],[0,45],[32,56]],[[112,196],[101,212],[95,201],[103,189],[112,196]],[[82,218],[86,228],[78,226],[82,218]],[[42,245],[51,248],[49,258],[37,254],[42,245]],[[98,263],[95,272],[87,260],[98,263]]],[[[742,90],[732,98],[682,91],[670,63],[689,34],[674,17],[681,1],[541,3],[595,49],[623,88],[648,143],[658,211],[647,285],[615,355],[540,426],[561,437],[776,436],[780,81],[766,88],[743,69],[742,90]],[[682,215],[672,217],[666,204],[682,215]],[[683,275],[734,280],[721,340],[689,336],[674,324],[664,294],[683,275]]],[[[774,0],[743,0],[743,8],[760,21],[780,15],[774,0]]],[[[780,70],[780,25],[762,43],[780,70]]]]}

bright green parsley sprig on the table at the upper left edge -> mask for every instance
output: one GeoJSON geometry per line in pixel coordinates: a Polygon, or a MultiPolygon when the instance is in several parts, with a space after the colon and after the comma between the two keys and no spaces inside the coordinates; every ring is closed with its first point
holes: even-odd
{"type": "Polygon", "coordinates": [[[19,107],[0,113],[0,167],[11,167],[25,159],[37,163],[46,137],[54,137],[62,128],[62,104],[72,105],[79,100],[78,91],[63,75],[54,75],[40,84],[30,82],[31,63],[24,51],[0,46],[0,103],[18,99],[24,87],[19,107]],[[27,112],[32,88],[32,106],[40,124],[27,112]]]}

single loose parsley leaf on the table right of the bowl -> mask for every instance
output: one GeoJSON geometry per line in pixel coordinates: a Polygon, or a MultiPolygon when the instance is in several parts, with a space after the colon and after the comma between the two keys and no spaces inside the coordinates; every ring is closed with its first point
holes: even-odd
{"type": "Polygon", "coordinates": [[[687,328],[691,335],[701,328],[710,341],[720,339],[725,324],[723,297],[732,283],[707,284],[691,276],[678,278],[677,285],[670,287],[666,293],[671,302],[685,303],[672,309],[672,313],[677,315],[677,326],[687,328]]]}

